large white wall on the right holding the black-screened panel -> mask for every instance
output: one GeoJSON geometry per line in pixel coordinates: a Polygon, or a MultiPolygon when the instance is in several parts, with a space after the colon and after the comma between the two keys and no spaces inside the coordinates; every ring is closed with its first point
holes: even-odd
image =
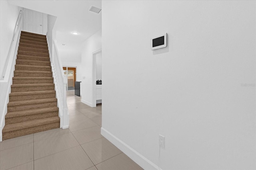
{"type": "Polygon", "coordinates": [[[102,134],[144,169],[256,169],[256,1],[102,9],[102,134]]]}

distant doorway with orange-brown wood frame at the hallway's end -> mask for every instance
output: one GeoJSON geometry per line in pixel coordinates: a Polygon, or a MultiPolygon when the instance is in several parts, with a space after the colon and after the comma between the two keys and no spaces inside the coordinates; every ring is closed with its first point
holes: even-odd
{"type": "Polygon", "coordinates": [[[76,82],[76,68],[75,67],[63,67],[64,75],[68,77],[67,90],[75,90],[76,82]]]}

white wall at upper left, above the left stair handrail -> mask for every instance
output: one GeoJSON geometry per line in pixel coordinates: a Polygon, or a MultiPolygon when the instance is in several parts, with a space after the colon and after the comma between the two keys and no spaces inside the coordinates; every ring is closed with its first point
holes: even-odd
{"type": "Polygon", "coordinates": [[[0,0],[0,75],[4,69],[10,49],[14,28],[19,16],[20,7],[8,4],[7,0],[0,0]]]}

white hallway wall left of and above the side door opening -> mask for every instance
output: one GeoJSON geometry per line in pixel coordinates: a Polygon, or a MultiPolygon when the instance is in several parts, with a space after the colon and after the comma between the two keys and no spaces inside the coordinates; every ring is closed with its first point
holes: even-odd
{"type": "Polygon", "coordinates": [[[92,106],[92,53],[101,49],[101,30],[82,44],[82,82],[81,102],[92,106]]]}

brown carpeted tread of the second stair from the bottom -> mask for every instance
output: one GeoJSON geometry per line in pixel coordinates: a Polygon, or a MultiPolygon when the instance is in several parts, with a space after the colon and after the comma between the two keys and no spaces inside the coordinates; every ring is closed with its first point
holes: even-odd
{"type": "Polygon", "coordinates": [[[47,108],[40,108],[40,109],[12,111],[12,112],[8,112],[5,116],[5,118],[9,119],[12,117],[36,115],[36,114],[40,114],[40,113],[48,113],[48,112],[54,112],[54,111],[58,111],[58,110],[59,110],[59,108],[55,106],[55,107],[47,107],[47,108]]]}

